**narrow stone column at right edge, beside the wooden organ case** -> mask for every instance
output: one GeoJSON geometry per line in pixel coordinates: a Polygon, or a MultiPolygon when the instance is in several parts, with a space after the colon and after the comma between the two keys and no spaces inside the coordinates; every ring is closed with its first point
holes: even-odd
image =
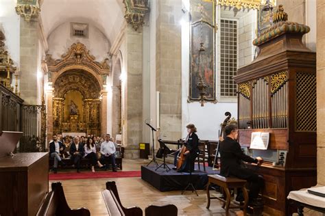
{"type": "Polygon", "coordinates": [[[317,0],[317,183],[325,185],[325,1],[317,0]]]}

